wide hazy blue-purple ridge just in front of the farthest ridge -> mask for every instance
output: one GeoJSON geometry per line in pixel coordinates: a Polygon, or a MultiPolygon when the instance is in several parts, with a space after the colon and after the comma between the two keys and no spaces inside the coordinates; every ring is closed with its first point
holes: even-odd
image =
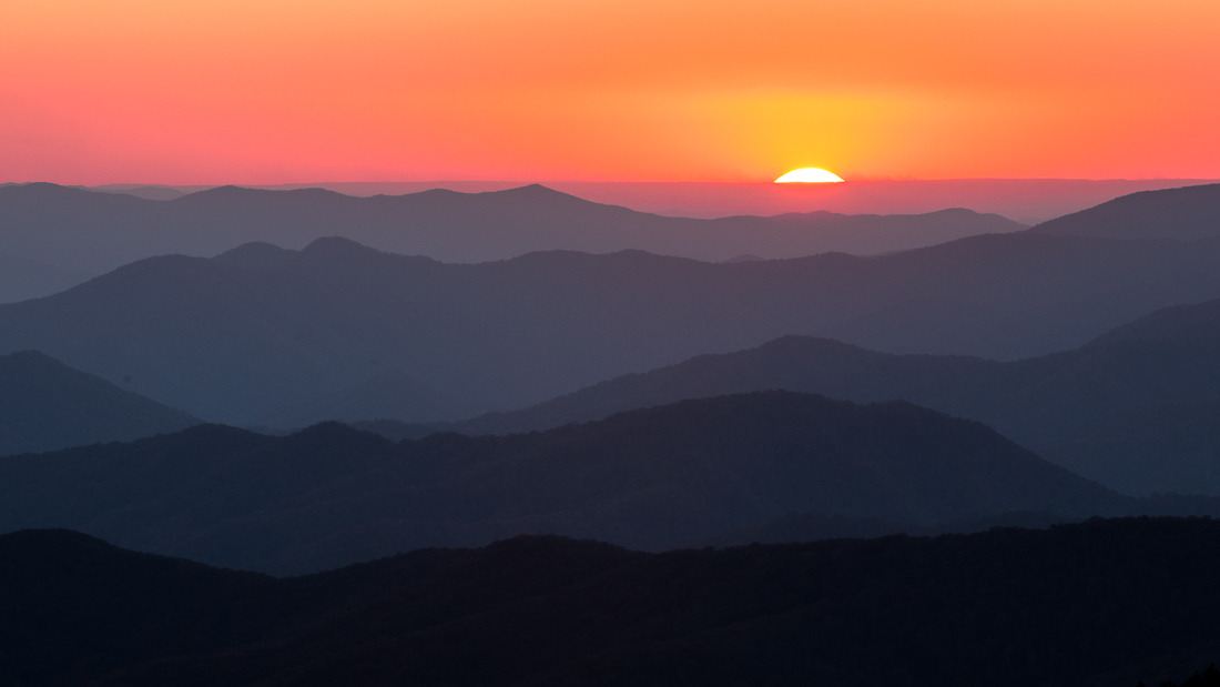
{"type": "MultiPolygon", "coordinates": [[[[878,257],[737,264],[550,251],[444,265],[331,238],[300,251],[254,244],[210,260],[144,260],[0,306],[0,351],[44,350],[234,425],[323,408],[320,399],[401,373],[417,384],[416,406],[453,399],[455,420],[784,334],[892,353],[1064,350],[1157,308],[1213,298],[1216,264],[1220,239],[1026,232],[878,257]]],[[[422,419],[395,412],[378,416],[422,419]]]]}

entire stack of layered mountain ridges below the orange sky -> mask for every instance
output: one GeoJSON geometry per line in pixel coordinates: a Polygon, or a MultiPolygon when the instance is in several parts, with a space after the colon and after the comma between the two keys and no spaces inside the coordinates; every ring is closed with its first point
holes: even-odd
{"type": "Polygon", "coordinates": [[[127,262],[0,305],[5,685],[1131,687],[1220,650],[1220,185],[783,260],[993,218],[88,195],[0,187],[5,283],[127,262]],[[1125,517],[1166,514],[1203,517],[1125,517]]]}

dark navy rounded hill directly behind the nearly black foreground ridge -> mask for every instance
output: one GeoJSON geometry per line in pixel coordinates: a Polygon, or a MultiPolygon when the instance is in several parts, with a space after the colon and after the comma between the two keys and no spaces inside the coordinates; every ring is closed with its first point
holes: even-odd
{"type": "Polygon", "coordinates": [[[510,437],[394,444],[337,423],[283,438],[200,426],[0,459],[0,531],[68,527],[270,572],[518,533],[656,550],[793,514],[902,530],[1133,508],[976,422],[789,392],[510,437]]]}

